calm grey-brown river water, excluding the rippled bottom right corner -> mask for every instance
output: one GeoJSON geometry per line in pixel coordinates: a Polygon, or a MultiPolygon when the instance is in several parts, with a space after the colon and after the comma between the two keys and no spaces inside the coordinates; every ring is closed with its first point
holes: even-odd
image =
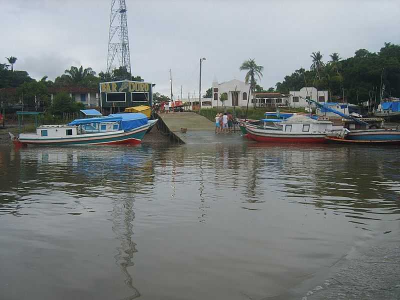
{"type": "Polygon", "coordinates": [[[398,236],[399,167],[396,147],[2,146],[0,298],[296,298],[398,236]]]}

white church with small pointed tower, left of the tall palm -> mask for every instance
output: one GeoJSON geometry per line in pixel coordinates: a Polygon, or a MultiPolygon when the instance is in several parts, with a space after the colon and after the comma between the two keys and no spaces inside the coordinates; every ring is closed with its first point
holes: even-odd
{"type": "Polygon", "coordinates": [[[212,107],[221,106],[246,106],[248,97],[249,84],[237,79],[218,83],[216,79],[212,81],[212,107]],[[226,94],[227,100],[223,105],[220,101],[220,95],[226,94]]]}

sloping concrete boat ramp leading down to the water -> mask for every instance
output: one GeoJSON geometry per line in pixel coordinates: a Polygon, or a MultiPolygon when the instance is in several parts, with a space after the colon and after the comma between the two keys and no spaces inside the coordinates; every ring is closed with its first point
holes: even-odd
{"type": "Polygon", "coordinates": [[[215,123],[195,112],[160,113],[158,128],[168,133],[170,139],[186,144],[236,143],[242,139],[238,131],[215,134],[215,123]],[[187,128],[186,133],[181,128],[187,128]]]}

